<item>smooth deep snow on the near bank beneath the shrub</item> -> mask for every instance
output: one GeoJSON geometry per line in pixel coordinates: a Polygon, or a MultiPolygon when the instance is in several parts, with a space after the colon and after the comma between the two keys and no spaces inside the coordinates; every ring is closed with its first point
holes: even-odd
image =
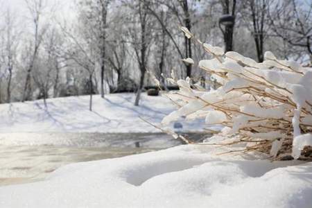
{"type": "Polygon", "coordinates": [[[177,146],[71,164],[43,182],[0,187],[0,207],[311,207],[311,162],[216,151],[225,149],[177,146]]]}

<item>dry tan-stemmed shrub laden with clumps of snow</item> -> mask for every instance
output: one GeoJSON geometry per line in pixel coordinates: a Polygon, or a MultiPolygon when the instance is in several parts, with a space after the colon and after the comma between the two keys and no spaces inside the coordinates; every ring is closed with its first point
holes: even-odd
{"type": "MultiPolygon", "coordinates": [[[[188,38],[193,34],[183,28],[188,38]]],[[[267,51],[258,63],[234,51],[199,42],[214,58],[199,67],[221,87],[209,92],[187,80],[169,78],[180,87],[170,98],[178,109],[162,123],[185,116],[204,117],[207,125],[224,125],[223,134],[246,144],[245,151],[280,150],[297,159],[305,146],[312,146],[312,68],[290,60],[278,60],[267,51]]],[[[193,63],[190,58],[186,59],[193,63]]]]}

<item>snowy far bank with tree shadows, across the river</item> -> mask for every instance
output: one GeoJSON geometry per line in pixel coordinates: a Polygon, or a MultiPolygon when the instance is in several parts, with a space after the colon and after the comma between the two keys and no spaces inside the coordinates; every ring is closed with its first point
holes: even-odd
{"type": "MultiPolygon", "coordinates": [[[[140,106],[133,105],[135,94],[94,96],[89,111],[89,96],[53,98],[0,105],[0,132],[159,132],[160,123],[175,106],[162,96],[142,94],[140,106]]],[[[181,131],[197,131],[202,123],[183,123],[181,131]]]]}

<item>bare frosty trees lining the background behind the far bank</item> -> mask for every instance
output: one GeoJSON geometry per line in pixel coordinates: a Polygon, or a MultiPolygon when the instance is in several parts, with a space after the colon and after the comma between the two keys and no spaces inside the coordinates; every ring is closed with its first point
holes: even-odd
{"type": "Polygon", "coordinates": [[[1,7],[0,103],[89,94],[92,110],[92,94],[136,92],[139,105],[154,76],[166,88],[172,73],[209,87],[209,75],[181,61],[209,57],[180,26],[259,62],[274,51],[311,63],[311,1],[81,0],[71,21],[47,1],[24,0],[26,18],[1,7]]]}

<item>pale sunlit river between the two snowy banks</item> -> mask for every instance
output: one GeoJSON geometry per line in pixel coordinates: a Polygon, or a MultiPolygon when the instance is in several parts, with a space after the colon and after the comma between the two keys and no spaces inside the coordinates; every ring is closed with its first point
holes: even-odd
{"type": "MultiPolygon", "coordinates": [[[[188,134],[200,140],[203,134],[188,134]]],[[[75,162],[122,157],[181,145],[161,133],[0,134],[0,186],[44,180],[56,168],[75,162]]]]}

